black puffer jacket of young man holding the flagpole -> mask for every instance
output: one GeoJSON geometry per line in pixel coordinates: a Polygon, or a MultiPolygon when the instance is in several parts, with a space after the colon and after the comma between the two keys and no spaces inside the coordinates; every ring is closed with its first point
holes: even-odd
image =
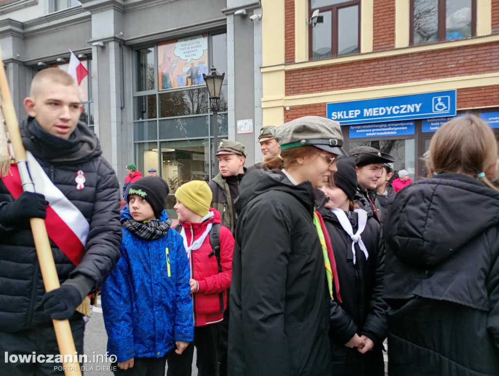
{"type": "MultiPolygon", "coordinates": [[[[101,156],[97,138],[83,123],[78,123],[81,147],[58,161],[42,159],[36,139],[21,124],[24,147],[38,160],[52,182],[78,208],[90,225],[86,253],[75,267],[50,241],[60,283],[69,284],[85,296],[107,278],[120,255],[120,189],[112,167],[101,156]],[[76,189],[76,172],[85,173],[85,186],[76,189]]],[[[0,180],[0,205],[13,197],[0,180]]],[[[52,325],[40,307],[45,293],[29,222],[14,228],[0,224],[0,331],[16,332],[52,325]]],[[[81,314],[73,315],[81,318],[81,314]]]]}

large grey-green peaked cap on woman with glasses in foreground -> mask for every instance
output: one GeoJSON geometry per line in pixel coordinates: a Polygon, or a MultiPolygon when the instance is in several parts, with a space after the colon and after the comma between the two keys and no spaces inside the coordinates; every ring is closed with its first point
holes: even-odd
{"type": "Polygon", "coordinates": [[[303,116],[276,127],[274,137],[281,150],[298,146],[315,146],[337,155],[346,155],[341,148],[343,135],[337,121],[321,116],[303,116]]]}

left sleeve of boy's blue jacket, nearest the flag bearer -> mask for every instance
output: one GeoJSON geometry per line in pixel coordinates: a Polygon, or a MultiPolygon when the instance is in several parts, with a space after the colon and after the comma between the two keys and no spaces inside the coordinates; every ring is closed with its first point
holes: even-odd
{"type": "Polygon", "coordinates": [[[110,355],[115,355],[118,362],[135,357],[128,260],[126,249],[122,245],[121,258],[101,288],[107,351],[110,355]]]}

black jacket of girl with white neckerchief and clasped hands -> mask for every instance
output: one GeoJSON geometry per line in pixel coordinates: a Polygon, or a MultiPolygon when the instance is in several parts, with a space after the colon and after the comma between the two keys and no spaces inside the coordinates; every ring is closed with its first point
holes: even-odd
{"type": "MultiPolygon", "coordinates": [[[[331,362],[334,375],[384,375],[383,340],[386,338],[386,303],[382,298],[385,245],[381,226],[369,217],[361,238],[368,251],[366,260],[358,245],[353,264],[352,240],[336,215],[320,208],[331,239],[342,303],[336,292],[331,301],[331,362]],[[373,350],[360,354],[344,345],[357,333],[374,342],[373,350]]],[[[347,212],[353,232],[358,229],[357,213],[347,212]]]]}

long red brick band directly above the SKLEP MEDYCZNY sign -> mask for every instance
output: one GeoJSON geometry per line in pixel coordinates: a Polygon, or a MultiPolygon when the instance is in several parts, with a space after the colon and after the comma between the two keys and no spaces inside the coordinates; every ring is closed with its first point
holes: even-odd
{"type": "Polygon", "coordinates": [[[491,42],[289,70],[286,72],[286,96],[495,73],[498,70],[499,43],[491,42]]]}

